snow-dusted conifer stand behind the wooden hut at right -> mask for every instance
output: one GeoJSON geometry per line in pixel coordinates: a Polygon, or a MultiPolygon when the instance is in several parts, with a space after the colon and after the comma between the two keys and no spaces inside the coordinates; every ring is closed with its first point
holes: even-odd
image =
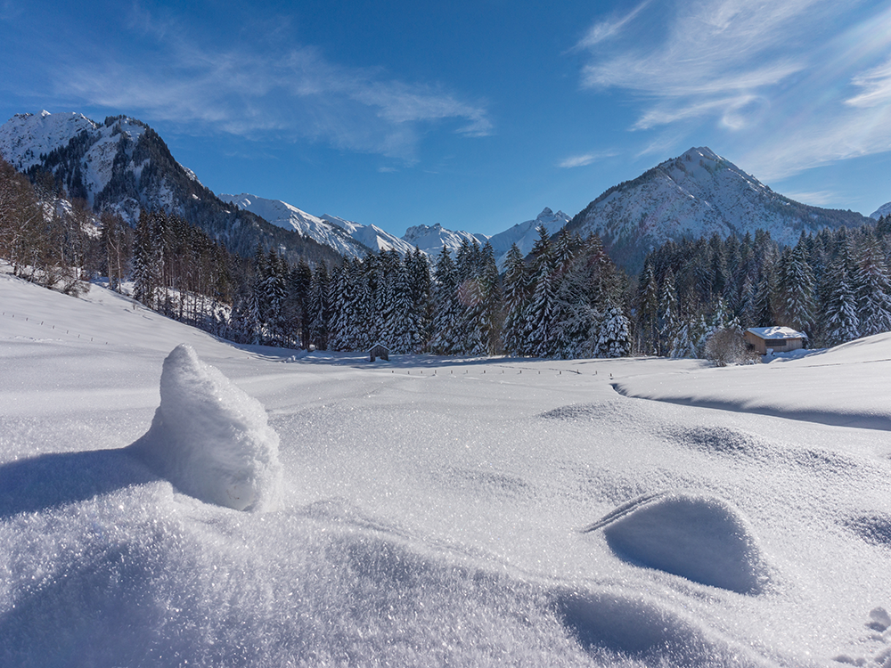
{"type": "Polygon", "coordinates": [[[891,330],[891,216],[824,228],[781,248],[768,232],[667,241],[638,278],[635,347],[702,357],[718,330],[790,327],[810,346],[891,330]]]}

